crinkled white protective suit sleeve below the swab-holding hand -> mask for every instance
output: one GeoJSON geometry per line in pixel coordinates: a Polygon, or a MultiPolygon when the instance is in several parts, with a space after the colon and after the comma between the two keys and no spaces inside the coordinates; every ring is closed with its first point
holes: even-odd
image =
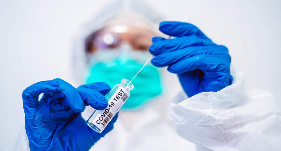
{"type": "Polygon", "coordinates": [[[281,112],[275,98],[268,91],[246,91],[243,73],[231,68],[232,85],[170,104],[177,133],[217,151],[280,150],[281,112]]]}

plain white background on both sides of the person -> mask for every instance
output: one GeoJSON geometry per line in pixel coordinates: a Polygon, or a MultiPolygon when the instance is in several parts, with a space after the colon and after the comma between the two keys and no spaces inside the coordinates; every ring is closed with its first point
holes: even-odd
{"type": "MultiPolygon", "coordinates": [[[[281,99],[281,1],[145,0],[168,20],[197,25],[229,48],[249,88],[281,99]]],[[[71,41],[110,1],[0,1],[0,146],[10,150],[24,121],[21,93],[29,85],[71,75],[71,41]]],[[[76,86],[76,85],[75,85],[76,86]]]]}

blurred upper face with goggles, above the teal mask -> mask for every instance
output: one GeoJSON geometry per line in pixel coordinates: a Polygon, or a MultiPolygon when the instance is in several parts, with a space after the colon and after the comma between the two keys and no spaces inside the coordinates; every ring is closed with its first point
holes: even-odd
{"type": "Polygon", "coordinates": [[[86,51],[94,53],[102,49],[118,48],[122,43],[130,44],[134,50],[148,51],[151,38],[156,34],[143,27],[133,25],[111,25],[86,38],[86,51]]]}

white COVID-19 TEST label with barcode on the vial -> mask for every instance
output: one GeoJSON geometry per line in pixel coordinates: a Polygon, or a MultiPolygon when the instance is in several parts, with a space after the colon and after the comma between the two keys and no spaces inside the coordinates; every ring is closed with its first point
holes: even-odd
{"type": "Polygon", "coordinates": [[[103,129],[119,111],[129,96],[130,93],[125,88],[119,86],[117,91],[108,100],[108,106],[104,110],[100,111],[97,117],[92,121],[92,124],[103,131],[103,129]]]}

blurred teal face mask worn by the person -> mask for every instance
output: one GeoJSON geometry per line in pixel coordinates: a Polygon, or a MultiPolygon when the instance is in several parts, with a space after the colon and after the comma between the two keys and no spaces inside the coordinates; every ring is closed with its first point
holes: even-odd
{"type": "MultiPolygon", "coordinates": [[[[142,66],[143,63],[138,63],[124,55],[111,60],[95,62],[90,67],[87,84],[103,81],[113,88],[123,78],[131,80],[142,66]]],[[[135,88],[130,91],[130,97],[121,108],[123,110],[139,109],[151,98],[161,93],[159,71],[152,65],[145,66],[132,84],[135,88]]]]}

